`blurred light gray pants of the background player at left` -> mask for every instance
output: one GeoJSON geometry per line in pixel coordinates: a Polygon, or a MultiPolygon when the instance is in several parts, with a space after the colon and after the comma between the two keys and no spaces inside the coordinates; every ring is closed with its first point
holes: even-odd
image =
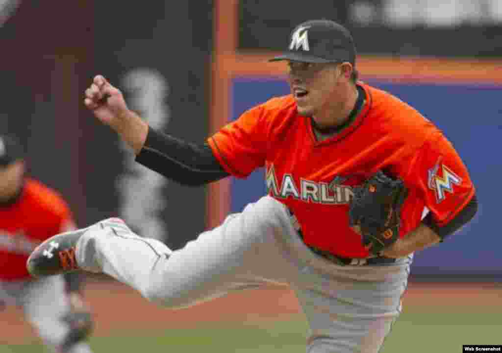
{"type": "MultiPolygon", "coordinates": [[[[61,320],[71,308],[62,276],[0,282],[0,300],[22,307],[26,319],[52,350],[62,343],[70,330],[61,320]]],[[[86,342],[80,342],[64,353],[91,353],[91,348],[86,342]]]]}

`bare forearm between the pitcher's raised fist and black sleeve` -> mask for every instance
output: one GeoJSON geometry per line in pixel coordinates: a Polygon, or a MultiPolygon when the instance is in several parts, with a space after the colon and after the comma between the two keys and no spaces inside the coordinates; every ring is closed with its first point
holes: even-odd
{"type": "Polygon", "coordinates": [[[132,110],[126,110],[119,119],[119,124],[112,125],[122,140],[138,155],[145,145],[148,135],[148,124],[132,110]]]}

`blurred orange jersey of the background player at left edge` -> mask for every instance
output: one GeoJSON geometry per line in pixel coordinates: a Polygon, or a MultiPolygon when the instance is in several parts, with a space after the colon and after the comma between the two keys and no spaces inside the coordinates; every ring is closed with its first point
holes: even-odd
{"type": "Polygon", "coordinates": [[[74,229],[62,197],[40,182],[27,179],[13,205],[0,207],[0,280],[23,280],[30,275],[26,261],[47,238],[74,229]]]}

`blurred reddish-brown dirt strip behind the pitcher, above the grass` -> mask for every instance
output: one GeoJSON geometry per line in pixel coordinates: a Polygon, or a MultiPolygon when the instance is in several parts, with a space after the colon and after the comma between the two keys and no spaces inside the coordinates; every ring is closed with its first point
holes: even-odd
{"type": "MultiPolygon", "coordinates": [[[[246,290],[180,310],[163,309],[132,289],[112,281],[88,283],[85,296],[97,323],[94,334],[100,336],[128,328],[180,328],[203,322],[287,319],[300,315],[298,301],[287,288],[246,290]]],[[[477,306],[492,306],[495,302],[498,305],[501,297],[502,287],[493,284],[411,283],[404,304],[405,308],[420,305],[446,307],[473,302],[477,306]]],[[[0,344],[36,340],[19,309],[7,308],[0,316],[0,344]]]]}

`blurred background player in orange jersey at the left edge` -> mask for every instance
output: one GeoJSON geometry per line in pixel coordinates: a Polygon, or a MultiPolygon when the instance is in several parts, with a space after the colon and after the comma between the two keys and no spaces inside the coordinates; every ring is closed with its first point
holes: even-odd
{"type": "Polygon", "coordinates": [[[92,321],[81,295],[81,275],[34,280],[26,270],[36,246],[75,226],[64,200],[25,176],[25,163],[17,139],[0,135],[0,316],[6,305],[18,305],[57,353],[90,353],[83,338],[92,321]]]}

